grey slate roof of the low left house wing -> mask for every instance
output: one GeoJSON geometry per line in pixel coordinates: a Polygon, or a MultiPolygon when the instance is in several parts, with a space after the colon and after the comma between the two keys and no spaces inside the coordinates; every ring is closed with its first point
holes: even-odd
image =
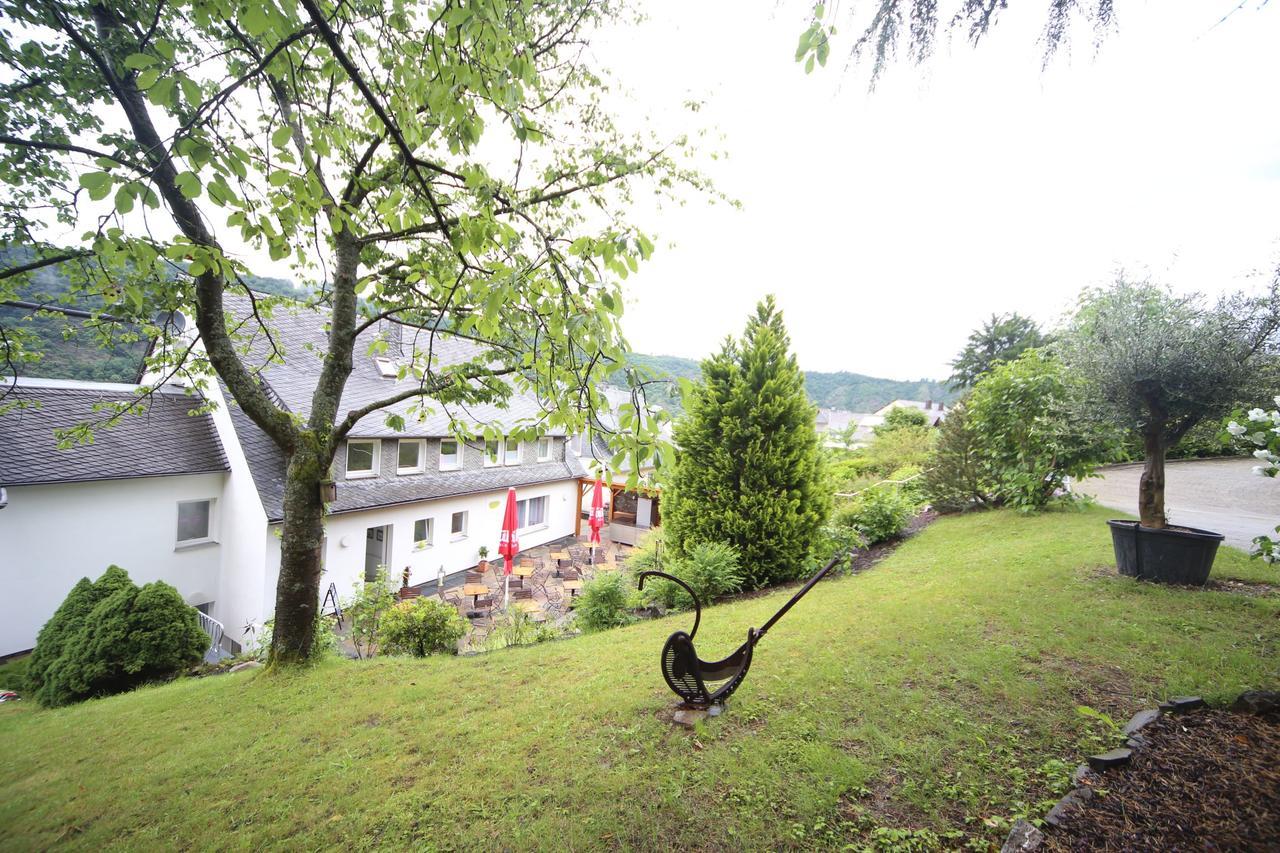
{"type": "Polygon", "coordinates": [[[13,393],[38,401],[40,407],[0,415],[0,485],[228,470],[212,418],[188,414],[202,398],[172,387],[152,394],[145,412],[96,430],[93,443],[58,450],[54,429],[101,418],[97,403],[128,402],[134,391],[132,386],[20,379],[13,393]]]}

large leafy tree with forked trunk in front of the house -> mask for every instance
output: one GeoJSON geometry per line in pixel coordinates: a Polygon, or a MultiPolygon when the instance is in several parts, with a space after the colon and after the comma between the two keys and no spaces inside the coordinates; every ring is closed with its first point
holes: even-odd
{"type": "MultiPolygon", "coordinates": [[[[320,484],[357,421],[524,392],[545,410],[520,425],[531,434],[577,429],[602,403],[593,375],[622,355],[617,280],[652,250],[622,216],[628,193],[700,184],[682,142],[626,134],[604,109],[585,44],[614,13],[593,0],[0,0],[0,240],[35,251],[0,270],[0,302],[63,263],[68,301],[92,297],[104,343],[155,338],[157,383],[216,377],[282,448],[273,665],[312,648],[320,484]],[[58,238],[73,229],[74,245],[58,238]],[[315,282],[323,351],[273,336],[279,297],[244,284],[244,259],[262,254],[315,282]],[[251,316],[230,316],[228,293],[247,295],[251,316]],[[357,336],[385,320],[417,329],[401,366],[416,382],[343,409],[357,336]],[[445,332],[479,355],[443,362],[445,332]],[[273,357],[316,362],[310,411],[259,383],[253,336],[273,357]]],[[[33,357],[20,325],[0,328],[0,362],[33,357]]],[[[649,424],[627,430],[634,452],[654,452],[649,424]]]]}

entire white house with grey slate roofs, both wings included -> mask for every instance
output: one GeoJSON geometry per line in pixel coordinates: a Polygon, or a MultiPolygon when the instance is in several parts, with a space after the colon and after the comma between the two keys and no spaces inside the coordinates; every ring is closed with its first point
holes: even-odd
{"type": "MultiPolygon", "coordinates": [[[[251,314],[247,298],[228,295],[227,305],[239,318],[251,314]]],[[[323,311],[301,305],[278,307],[271,341],[260,336],[248,343],[247,359],[266,392],[302,418],[310,412],[320,369],[314,347],[324,347],[326,321],[323,311]],[[284,351],[283,362],[271,359],[273,347],[284,351]]],[[[399,362],[415,346],[412,332],[384,323],[361,334],[339,412],[413,382],[397,379],[399,362]],[[375,338],[385,350],[362,355],[375,338]]],[[[448,337],[436,337],[433,352],[443,364],[477,356],[470,342],[448,337]]],[[[120,419],[100,430],[93,444],[58,451],[55,428],[92,418],[95,402],[127,400],[136,391],[63,383],[74,387],[70,394],[58,384],[20,380],[22,396],[41,407],[0,416],[0,487],[9,491],[9,506],[0,510],[6,593],[0,656],[31,648],[76,580],[96,578],[110,564],[138,581],[177,587],[225,626],[225,646],[238,651],[261,631],[275,603],[283,453],[218,383],[209,386],[214,406],[207,415],[187,414],[205,400],[166,388],[148,414],[120,419]]],[[[366,416],[338,450],[321,589],[333,583],[348,596],[379,566],[393,578],[407,574],[412,584],[457,575],[475,566],[481,546],[497,557],[509,487],[517,489],[522,547],[573,534],[588,471],[568,451],[566,435],[550,432],[518,442],[458,434],[535,424],[541,411],[536,400],[516,394],[507,406],[465,410],[428,405],[417,415],[408,407],[406,401],[366,416]],[[404,419],[401,430],[387,426],[388,412],[404,419]]]]}

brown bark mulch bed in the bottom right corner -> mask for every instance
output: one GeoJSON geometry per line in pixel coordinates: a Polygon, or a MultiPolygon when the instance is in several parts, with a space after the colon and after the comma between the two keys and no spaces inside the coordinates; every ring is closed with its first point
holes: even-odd
{"type": "Polygon", "coordinates": [[[1280,716],[1165,716],[1142,736],[1042,849],[1280,850],[1280,716]]]}

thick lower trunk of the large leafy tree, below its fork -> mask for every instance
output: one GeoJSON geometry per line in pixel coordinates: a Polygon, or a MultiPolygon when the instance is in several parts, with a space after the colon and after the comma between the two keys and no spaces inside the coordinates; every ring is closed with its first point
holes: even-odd
{"type": "Polygon", "coordinates": [[[275,626],[269,667],[303,663],[315,644],[320,607],[320,544],[324,503],[320,482],[328,476],[328,455],[311,442],[300,442],[284,475],[284,524],[280,537],[280,578],[275,585],[275,626]]]}

